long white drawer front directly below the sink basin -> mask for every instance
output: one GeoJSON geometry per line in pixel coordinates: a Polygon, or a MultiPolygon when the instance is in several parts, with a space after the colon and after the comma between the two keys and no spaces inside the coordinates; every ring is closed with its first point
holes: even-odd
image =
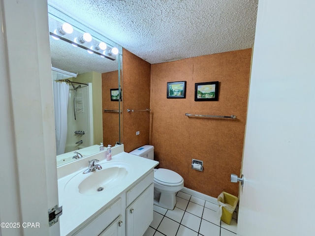
{"type": "Polygon", "coordinates": [[[88,225],[80,230],[75,236],[99,235],[110,225],[122,212],[122,199],[117,199],[102,213],[96,216],[88,225]]]}

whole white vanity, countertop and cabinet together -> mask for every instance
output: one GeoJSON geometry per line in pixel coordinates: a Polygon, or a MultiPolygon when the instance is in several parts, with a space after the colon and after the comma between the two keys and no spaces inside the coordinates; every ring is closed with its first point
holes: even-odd
{"type": "Polygon", "coordinates": [[[122,145],[113,150],[117,153],[111,161],[104,159],[103,152],[88,157],[100,160],[98,164],[102,170],[93,174],[82,174],[87,168],[86,159],[57,169],[59,204],[63,206],[60,235],[143,236],[150,226],[153,220],[154,168],[158,162],[126,153],[122,145]],[[120,168],[124,171],[115,172],[115,175],[110,172],[120,168]],[[117,182],[111,185],[106,179],[117,182]],[[95,189],[95,192],[80,192],[83,181],[89,183],[84,185],[85,188],[95,189]],[[96,191],[99,187],[103,187],[103,191],[96,191]]]}

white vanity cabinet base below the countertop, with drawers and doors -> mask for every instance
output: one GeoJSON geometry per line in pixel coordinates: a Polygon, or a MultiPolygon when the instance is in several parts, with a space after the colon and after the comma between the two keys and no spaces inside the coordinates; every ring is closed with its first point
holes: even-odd
{"type": "Polygon", "coordinates": [[[153,220],[153,179],[151,170],[73,236],[143,236],[153,220]]]}

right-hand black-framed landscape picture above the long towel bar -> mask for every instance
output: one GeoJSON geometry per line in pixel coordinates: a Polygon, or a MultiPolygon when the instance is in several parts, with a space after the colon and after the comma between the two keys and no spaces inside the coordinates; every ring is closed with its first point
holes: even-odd
{"type": "Polygon", "coordinates": [[[195,101],[218,101],[219,81],[195,83],[195,101]]]}

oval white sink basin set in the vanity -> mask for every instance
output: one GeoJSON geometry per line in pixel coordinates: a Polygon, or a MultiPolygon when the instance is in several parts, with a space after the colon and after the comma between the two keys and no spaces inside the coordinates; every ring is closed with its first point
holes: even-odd
{"type": "Polygon", "coordinates": [[[101,170],[88,174],[81,171],[72,177],[65,185],[64,191],[76,191],[85,195],[108,193],[106,190],[118,186],[132,171],[126,162],[106,162],[99,165],[102,167],[101,170]]]}

